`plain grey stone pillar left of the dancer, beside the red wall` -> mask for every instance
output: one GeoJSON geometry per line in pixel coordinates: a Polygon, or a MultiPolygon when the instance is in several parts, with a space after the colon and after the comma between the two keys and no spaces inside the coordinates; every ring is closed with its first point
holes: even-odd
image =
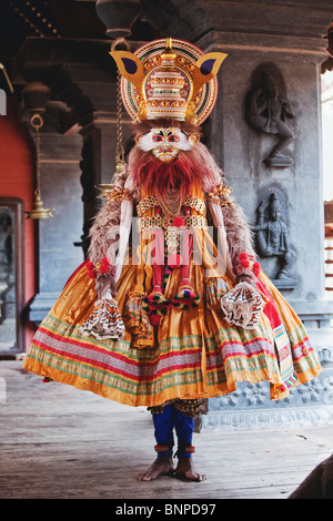
{"type": "MultiPolygon", "coordinates": [[[[37,221],[39,290],[29,309],[29,319],[37,325],[52,307],[71,273],[83,262],[82,251],[74,246],[83,224],[82,137],[57,132],[54,118],[57,121],[59,115],[52,114],[52,109],[49,106],[44,114],[40,131],[41,195],[44,207],[53,208],[53,216],[37,221]]],[[[33,131],[31,135],[34,139],[33,131]]]]}

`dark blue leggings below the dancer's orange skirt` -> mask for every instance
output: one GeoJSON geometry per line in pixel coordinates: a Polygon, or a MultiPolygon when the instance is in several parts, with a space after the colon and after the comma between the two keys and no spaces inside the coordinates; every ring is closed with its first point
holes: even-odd
{"type": "Polygon", "coordinates": [[[173,428],[178,438],[178,458],[191,458],[192,452],[189,448],[192,446],[192,436],[194,432],[194,418],[185,416],[176,409],[173,403],[164,407],[163,412],[152,415],[154,422],[154,435],[157,447],[165,448],[158,451],[159,458],[171,458],[174,445],[173,428]],[[169,448],[169,450],[167,449],[169,448]],[[188,448],[188,450],[186,450],[188,448]]]}

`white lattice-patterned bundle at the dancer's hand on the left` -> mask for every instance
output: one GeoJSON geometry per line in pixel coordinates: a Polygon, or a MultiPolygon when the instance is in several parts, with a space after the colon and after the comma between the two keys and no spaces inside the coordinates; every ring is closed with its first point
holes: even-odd
{"type": "Polygon", "coordinates": [[[107,338],[121,339],[124,335],[124,324],[118,310],[117,300],[98,300],[94,310],[79,329],[81,335],[94,336],[99,340],[107,338]]]}

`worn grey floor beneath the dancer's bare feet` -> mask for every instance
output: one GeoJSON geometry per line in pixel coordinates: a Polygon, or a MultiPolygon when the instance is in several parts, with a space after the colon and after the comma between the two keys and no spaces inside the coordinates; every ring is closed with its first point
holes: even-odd
{"type": "Polygon", "coordinates": [[[194,433],[201,483],[137,474],[154,459],[145,408],[130,408],[0,361],[0,499],[286,499],[333,453],[333,426],[194,433]]]}

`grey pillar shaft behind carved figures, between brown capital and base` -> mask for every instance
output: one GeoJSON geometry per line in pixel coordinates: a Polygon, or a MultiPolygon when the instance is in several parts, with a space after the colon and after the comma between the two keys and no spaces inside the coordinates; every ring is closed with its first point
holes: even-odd
{"type": "MultiPolygon", "coordinates": [[[[233,195],[244,208],[251,225],[258,224],[258,210],[265,193],[284,200],[282,219],[291,249],[287,280],[276,279],[276,256],[261,256],[261,264],[295,311],[309,327],[324,327],[333,317],[333,303],[324,297],[324,216],[321,170],[320,67],[323,53],[278,37],[205,37],[199,44],[229,54],[219,78],[220,96],[211,118],[210,147],[223,167],[233,195]],[[210,41],[210,43],[209,43],[210,41]],[[282,45],[283,42],[283,45],[282,45]],[[252,43],[252,44],[251,44],[252,43]],[[274,47],[271,47],[274,43],[274,47]],[[294,47],[287,47],[294,45],[294,47]],[[279,142],[276,134],[260,132],[246,121],[252,76],[260,68],[274,67],[284,79],[294,118],[287,122],[294,140],[286,147],[287,166],[265,163],[279,142]],[[251,194],[251,195],[249,195],[251,194]]],[[[260,251],[258,252],[261,255],[260,251]]]]}

